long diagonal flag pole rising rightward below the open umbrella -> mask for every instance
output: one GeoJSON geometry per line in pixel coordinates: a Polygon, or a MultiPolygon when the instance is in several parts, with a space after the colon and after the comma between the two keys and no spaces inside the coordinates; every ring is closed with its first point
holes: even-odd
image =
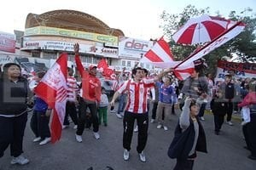
{"type": "Polygon", "coordinates": [[[240,25],[244,25],[241,21],[238,21],[234,26],[231,26],[230,29],[222,32],[221,34],[218,35],[218,37],[215,37],[212,42],[208,42],[205,46],[201,47],[200,49],[196,50],[194,53],[189,54],[189,56],[185,59],[182,60],[182,62],[180,62],[179,64],[177,64],[176,66],[174,66],[173,69],[176,69],[179,65],[182,65],[186,60],[191,59],[195,54],[198,54],[199,52],[201,52],[203,49],[207,48],[208,46],[210,46],[213,42],[215,42],[215,40],[217,40],[219,37],[222,37],[224,34],[226,34],[227,32],[233,30],[234,28],[236,28],[236,26],[240,26],[240,25]]]}

